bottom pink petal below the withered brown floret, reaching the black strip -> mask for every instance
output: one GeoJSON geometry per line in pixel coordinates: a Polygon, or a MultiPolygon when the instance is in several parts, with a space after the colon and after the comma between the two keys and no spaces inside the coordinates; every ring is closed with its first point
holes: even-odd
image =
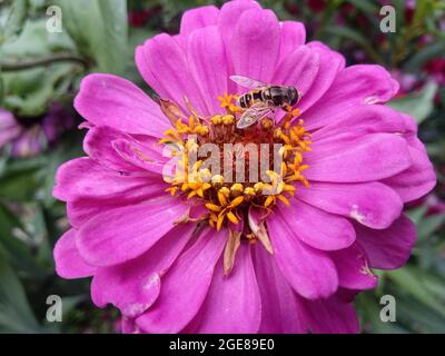
{"type": "Polygon", "coordinates": [[[219,259],[206,300],[187,332],[253,334],[258,332],[260,322],[261,300],[250,247],[241,244],[230,275],[224,275],[222,259],[219,259]]]}

